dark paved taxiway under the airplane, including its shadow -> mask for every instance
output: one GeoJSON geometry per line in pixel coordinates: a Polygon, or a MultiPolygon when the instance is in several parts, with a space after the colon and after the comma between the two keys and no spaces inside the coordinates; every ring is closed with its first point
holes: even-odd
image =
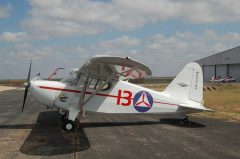
{"type": "Polygon", "coordinates": [[[191,117],[188,126],[157,115],[86,114],[61,130],[55,110],[0,92],[0,158],[240,158],[240,123],[191,117]]]}

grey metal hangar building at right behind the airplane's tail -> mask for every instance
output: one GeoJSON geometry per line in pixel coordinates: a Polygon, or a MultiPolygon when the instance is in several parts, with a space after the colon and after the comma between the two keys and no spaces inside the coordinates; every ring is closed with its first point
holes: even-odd
{"type": "Polygon", "coordinates": [[[240,46],[197,60],[204,82],[215,76],[233,77],[240,82],[240,46]]]}

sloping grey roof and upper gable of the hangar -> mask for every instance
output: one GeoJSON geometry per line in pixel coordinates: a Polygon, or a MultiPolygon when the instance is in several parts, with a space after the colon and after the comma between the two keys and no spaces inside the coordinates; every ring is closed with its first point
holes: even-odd
{"type": "Polygon", "coordinates": [[[240,64],[240,46],[197,60],[200,65],[240,64]]]}

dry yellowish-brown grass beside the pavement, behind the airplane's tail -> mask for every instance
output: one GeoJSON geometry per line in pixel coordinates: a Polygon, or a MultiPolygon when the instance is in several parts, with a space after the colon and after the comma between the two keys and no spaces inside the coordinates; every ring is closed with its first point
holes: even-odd
{"type": "MultiPolygon", "coordinates": [[[[162,91],[168,84],[141,84],[144,87],[162,91]]],[[[207,84],[206,86],[211,86],[207,84]]],[[[204,105],[215,112],[203,112],[193,115],[224,118],[240,121],[240,84],[214,85],[215,91],[204,91],[204,105]]]]}

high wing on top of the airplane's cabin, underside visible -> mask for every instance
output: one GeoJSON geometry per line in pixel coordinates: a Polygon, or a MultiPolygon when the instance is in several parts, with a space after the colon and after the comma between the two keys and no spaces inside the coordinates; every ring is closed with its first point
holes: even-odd
{"type": "Polygon", "coordinates": [[[89,59],[81,68],[80,72],[91,78],[107,80],[114,74],[115,77],[123,79],[140,79],[152,74],[151,70],[144,64],[132,60],[129,57],[95,56],[89,59]]]}

